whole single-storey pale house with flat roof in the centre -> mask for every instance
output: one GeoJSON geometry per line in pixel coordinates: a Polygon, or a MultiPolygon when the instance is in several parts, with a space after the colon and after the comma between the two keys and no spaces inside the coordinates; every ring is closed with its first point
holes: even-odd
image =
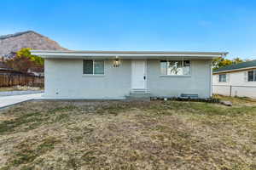
{"type": "Polygon", "coordinates": [[[212,96],[212,59],[227,53],[143,51],[45,51],[45,97],[212,96]]]}

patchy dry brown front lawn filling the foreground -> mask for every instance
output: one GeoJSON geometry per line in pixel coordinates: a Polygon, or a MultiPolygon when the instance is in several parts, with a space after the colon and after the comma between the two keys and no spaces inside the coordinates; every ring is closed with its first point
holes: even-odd
{"type": "Polygon", "coordinates": [[[256,169],[256,104],[242,102],[15,105],[0,111],[0,169],[256,169]]]}

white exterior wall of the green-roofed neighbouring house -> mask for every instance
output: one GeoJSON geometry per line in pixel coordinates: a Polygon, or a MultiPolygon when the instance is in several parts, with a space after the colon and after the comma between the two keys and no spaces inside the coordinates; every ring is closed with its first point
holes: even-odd
{"type": "MultiPolygon", "coordinates": [[[[220,74],[220,73],[219,73],[220,74]]],[[[228,82],[218,82],[218,74],[213,75],[212,79],[212,90],[213,94],[231,95],[239,97],[249,97],[256,99],[256,88],[242,88],[236,86],[254,86],[256,87],[256,82],[247,82],[247,71],[237,71],[222,73],[227,74],[228,82]],[[230,86],[232,88],[230,89],[230,86]]]]}

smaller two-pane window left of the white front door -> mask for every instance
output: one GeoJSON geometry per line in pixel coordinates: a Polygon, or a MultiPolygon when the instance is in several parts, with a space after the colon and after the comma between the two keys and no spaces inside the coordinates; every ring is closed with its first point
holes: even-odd
{"type": "Polygon", "coordinates": [[[84,59],[83,73],[87,75],[103,75],[104,60],[103,59],[84,59]]]}

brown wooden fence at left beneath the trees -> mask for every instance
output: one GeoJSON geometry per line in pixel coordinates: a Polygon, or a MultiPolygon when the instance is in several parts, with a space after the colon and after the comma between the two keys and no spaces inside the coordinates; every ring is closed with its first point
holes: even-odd
{"type": "Polygon", "coordinates": [[[33,77],[20,74],[0,74],[0,87],[11,86],[31,86],[31,87],[44,87],[44,77],[33,77]]]}

